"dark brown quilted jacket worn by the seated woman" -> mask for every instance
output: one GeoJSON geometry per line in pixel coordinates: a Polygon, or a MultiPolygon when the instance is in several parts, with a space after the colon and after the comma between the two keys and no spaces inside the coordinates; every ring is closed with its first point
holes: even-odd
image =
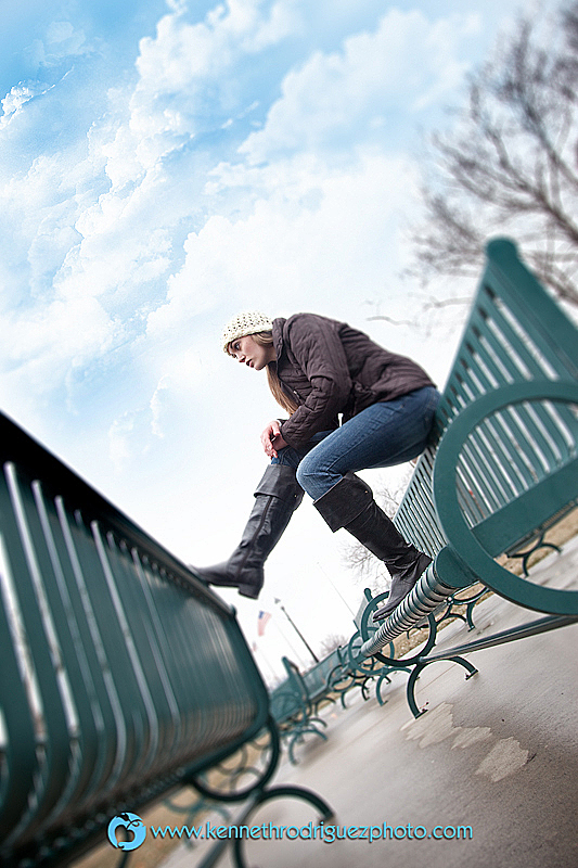
{"type": "Polygon", "coordinates": [[[299,405],[283,422],[290,446],[338,426],[376,401],[391,400],[434,383],[406,356],[384,349],[346,322],[316,314],[273,320],[277,371],[299,405]]]}

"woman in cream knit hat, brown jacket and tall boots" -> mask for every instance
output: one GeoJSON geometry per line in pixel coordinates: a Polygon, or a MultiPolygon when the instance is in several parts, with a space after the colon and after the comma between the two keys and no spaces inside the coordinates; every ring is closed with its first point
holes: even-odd
{"type": "Polygon", "coordinates": [[[423,451],[439,400],[434,383],[411,359],[314,314],[273,321],[241,314],[226,327],[222,348],[253,370],[267,370],[290,417],[273,420],[261,434],[271,463],[240,545],[228,561],[197,573],[257,599],[264,563],[305,490],[333,532],[345,527],[387,566],[389,597],[374,621],[386,617],[432,561],[406,542],[355,472],[400,464],[423,451]]]}

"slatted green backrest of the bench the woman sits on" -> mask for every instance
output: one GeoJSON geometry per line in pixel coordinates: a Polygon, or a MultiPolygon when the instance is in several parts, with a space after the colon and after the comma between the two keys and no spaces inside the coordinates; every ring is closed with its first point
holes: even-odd
{"type": "MultiPolygon", "coordinates": [[[[578,332],[521,263],[505,239],[488,244],[487,266],[436,414],[433,443],[420,458],[395,516],[400,532],[435,556],[446,539],[432,498],[436,447],[464,407],[500,386],[578,380],[578,332]]],[[[480,424],[460,458],[460,506],[492,554],[522,541],[527,525],[502,510],[576,460],[578,418],[567,404],[518,404],[480,424]],[[500,526],[501,525],[501,526],[500,526]]],[[[568,489],[571,486],[566,485],[568,489]]],[[[578,485],[575,486],[575,497],[578,485]]],[[[549,503],[541,505],[545,518],[549,503]]],[[[560,499],[552,500],[560,509],[560,499]]]]}

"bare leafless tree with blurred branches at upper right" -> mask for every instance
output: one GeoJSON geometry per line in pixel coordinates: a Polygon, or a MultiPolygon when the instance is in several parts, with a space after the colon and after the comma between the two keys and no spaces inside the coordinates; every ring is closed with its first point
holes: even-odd
{"type": "Polygon", "coordinates": [[[432,137],[414,276],[477,276],[488,238],[510,234],[542,282],[578,305],[577,81],[578,0],[548,34],[522,18],[474,73],[455,126],[432,137]]]}

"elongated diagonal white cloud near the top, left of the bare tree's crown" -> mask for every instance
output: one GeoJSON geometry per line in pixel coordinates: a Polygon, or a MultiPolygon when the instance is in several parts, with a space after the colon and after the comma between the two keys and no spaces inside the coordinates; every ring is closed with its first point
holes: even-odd
{"type": "Polygon", "coordinates": [[[418,111],[449,93],[467,67],[457,51],[478,26],[476,15],[432,24],[419,11],[387,12],[375,33],[344,41],[343,50],[314,52],[282,84],[264,129],[240,153],[252,163],[295,150],[346,150],[374,130],[385,141],[388,126],[408,108],[418,111]]]}

